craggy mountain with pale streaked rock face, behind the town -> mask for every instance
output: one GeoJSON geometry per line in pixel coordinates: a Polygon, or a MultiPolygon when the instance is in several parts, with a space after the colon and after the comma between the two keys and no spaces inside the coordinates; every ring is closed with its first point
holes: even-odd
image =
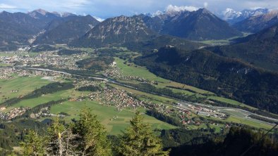
{"type": "Polygon", "coordinates": [[[129,41],[152,39],[157,33],[146,27],[141,18],[119,16],[99,23],[85,36],[73,41],[73,45],[107,46],[119,45],[129,41]]]}

